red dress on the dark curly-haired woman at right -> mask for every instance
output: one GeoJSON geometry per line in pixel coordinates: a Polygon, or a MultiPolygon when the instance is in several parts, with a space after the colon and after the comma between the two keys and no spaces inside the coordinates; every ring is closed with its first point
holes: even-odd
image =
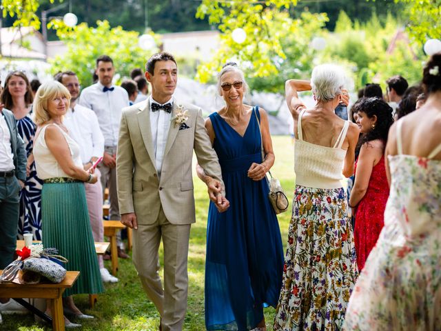
{"type": "Polygon", "coordinates": [[[357,207],[353,235],[356,243],[358,270],[362,270],[365,266],[365,261],[373,246],[376,245],[383,228],[387,198],[389,198],[389,184],[387,183],[383,156],[373,166],[365,197],[361,199],[357,207]]]}

